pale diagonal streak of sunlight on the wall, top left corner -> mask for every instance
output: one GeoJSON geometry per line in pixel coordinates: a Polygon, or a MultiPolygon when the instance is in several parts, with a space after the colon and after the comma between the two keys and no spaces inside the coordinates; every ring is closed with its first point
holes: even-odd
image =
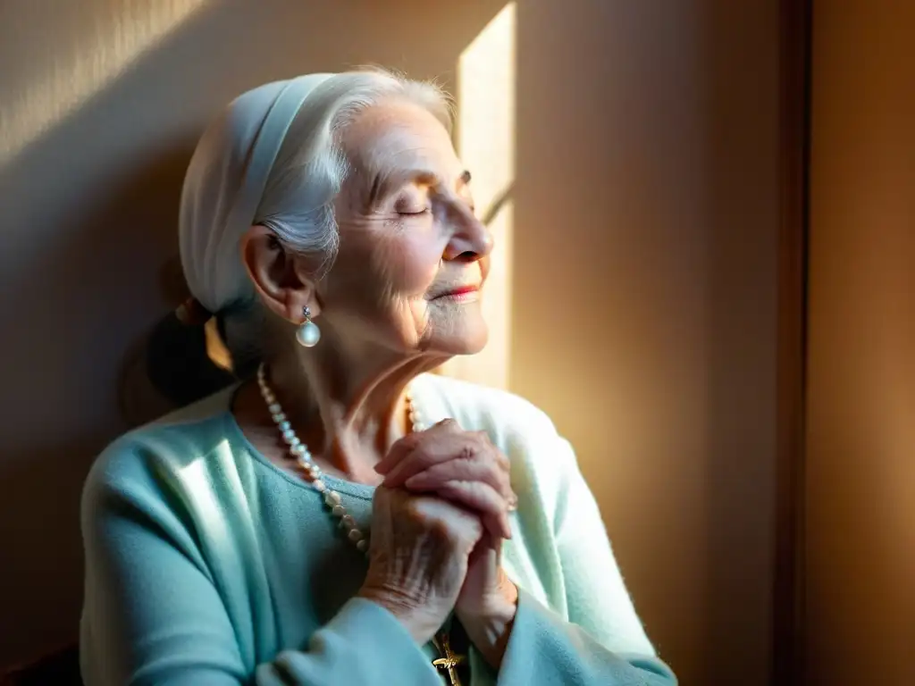
{"type": "MultiPolygon", "coordinates": [[[[0,166],[64,120],[208,0],[122,2],[97,16],[91,31],[55,41],[57,54],[0,108],[0,166]]],[[[91,12],[87,7],[86,12],[91,12]]]]}

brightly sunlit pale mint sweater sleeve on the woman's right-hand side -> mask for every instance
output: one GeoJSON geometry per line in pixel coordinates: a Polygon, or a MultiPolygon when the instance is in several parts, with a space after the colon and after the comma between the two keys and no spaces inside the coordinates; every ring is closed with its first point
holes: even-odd
{"type": "Polygon", "coordinates": [[[520,590],[499,684],[674,686],[632,605],[571,445],[560,439],[551,458],[561,470],[554,535],[569,618],[520,590]]]}

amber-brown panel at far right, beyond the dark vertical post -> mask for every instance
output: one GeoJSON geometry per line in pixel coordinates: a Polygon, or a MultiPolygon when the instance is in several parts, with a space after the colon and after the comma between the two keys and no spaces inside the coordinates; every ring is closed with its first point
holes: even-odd
{"type": "Polygon", "coordinates": [[[809,681],[915,683],[915,5],[814,13],[809,681]]]}

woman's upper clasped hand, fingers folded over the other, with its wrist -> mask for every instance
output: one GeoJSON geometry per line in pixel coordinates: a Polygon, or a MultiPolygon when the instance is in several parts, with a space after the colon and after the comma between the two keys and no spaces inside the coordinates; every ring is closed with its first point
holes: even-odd
{"type": "Polygon", "coordinates": [[[434,493],[479,512],[486,531],[470,554],[455,611],[498,669],[518,603],[518,588],[501,567],[502,540],[511,538],[508,512],[517,503],[508,459],[485,432],[445,420],[401,439],[375,468],[385,476],[384,486],[434,493]]]}

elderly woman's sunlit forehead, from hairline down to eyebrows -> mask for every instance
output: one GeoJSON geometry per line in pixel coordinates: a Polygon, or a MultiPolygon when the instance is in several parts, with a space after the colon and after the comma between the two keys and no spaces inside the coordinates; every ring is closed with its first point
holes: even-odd
{"type": "Polygon", "coordinates": [[[340,145],[350,165],[344,190],[364,200],[382,193],[382,186],[414,177],[453,183],[463,172],[445,126],[410,102],[368,108],[343,131],[340,145]]]}

